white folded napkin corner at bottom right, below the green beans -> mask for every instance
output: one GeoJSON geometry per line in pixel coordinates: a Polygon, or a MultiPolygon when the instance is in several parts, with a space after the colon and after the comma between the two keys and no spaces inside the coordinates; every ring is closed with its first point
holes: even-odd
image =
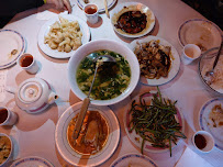
{"type": "Polygon", "coordinates": [[[180,157],[179,162],[175,167],[213,167],[189,147],[186,148],[185,153],[180,157]]]}

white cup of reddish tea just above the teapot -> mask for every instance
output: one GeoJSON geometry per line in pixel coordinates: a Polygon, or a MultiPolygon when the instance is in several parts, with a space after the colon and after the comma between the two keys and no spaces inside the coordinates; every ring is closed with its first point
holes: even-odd
{"type": "Polygon", "coordinates": [[[18,58],[18,65],[30,74],[38,71],[38,65],[31,54],[23,54],[18,58]]]}

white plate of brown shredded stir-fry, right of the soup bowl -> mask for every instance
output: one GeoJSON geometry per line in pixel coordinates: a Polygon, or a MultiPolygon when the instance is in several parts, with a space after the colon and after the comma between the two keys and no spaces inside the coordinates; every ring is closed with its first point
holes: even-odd
{"type": "Polygon", "coordinates": [[[164,85],[179,71],[180,58],[176,48],[161,37],[147,36],[134,40],[130,48],[138,59],[141,82],[145,85],[164,85]]]}

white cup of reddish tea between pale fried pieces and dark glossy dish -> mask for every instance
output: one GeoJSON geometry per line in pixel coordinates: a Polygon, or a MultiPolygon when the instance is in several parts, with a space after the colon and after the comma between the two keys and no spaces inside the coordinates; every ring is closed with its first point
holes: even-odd
{"type": "Polygon", "coordinates": [[[98,5],[93,3],[88,3],[83,8],[87,21],[91,24],[96,24],[99,20],[98,5]]]}

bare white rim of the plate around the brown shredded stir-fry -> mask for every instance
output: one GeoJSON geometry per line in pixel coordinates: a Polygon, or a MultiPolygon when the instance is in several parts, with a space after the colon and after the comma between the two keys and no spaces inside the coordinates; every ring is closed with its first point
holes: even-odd
{"type": "Polygon", "coordinates": [[[169,69],[169,74],[168,74],[167,78],[160,77],[159,79],[156,79],[156,78],[147,79],[147,78],[141,76],[141,82],[148,85],[148,86],[160,86],[160,85],[164,85],[164,84],[170,81],[171,79],[174,79],[177,76],[177,74],[180,69],[180,57],[179,57],[177,49],[169,42],[167,42],[166,40],[164,40],[161,37],[157,37],[157,36],[150,35],[150,36],[147,36],[147,37],[142,38],[142,40],[134,40],[132,43],[130,43],[129,46],[134,52],[136,43],[147,43],[152,40],[155,40],[155,41],[159,40],[160,45],[171,47],[171,55],[172,55],[172,57],[170,56],[171,67],[169,69]]]}

